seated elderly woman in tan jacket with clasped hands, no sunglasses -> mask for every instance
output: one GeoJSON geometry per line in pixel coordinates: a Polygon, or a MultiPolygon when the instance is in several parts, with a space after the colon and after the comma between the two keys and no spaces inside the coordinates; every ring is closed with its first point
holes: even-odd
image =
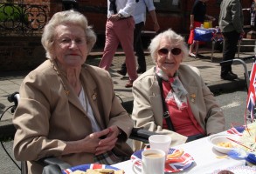
{"type": "Polygon", "coordinates": [[[96,36],[79,12],[56,13],[45,26],[48,58],[20,87],[13,124],[14,155],[33,163],[58,157],[71,165],[114,164],[133,153],[126,140],[133,121],[114,94],[106,70],[85,64],[96,36]]]}

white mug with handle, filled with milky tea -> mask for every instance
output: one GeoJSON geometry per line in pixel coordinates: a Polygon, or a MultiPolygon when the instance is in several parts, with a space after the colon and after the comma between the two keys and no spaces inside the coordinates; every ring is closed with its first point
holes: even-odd
{"type": "Polygon", "coordinates": [[[163,174],[165,165],[165,152],[162,150],[142,151],[142,159],[136,158],[133,161],[133,171],[136,174],[163,174]],[[142,167],[138,169],[135,163],[141,161],[142,167]]]}

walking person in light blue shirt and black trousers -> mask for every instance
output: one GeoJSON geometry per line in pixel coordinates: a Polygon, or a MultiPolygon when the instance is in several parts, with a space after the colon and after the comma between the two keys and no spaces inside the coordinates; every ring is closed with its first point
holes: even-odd
{"type": "MultiPolygon", "coordinates": [[[[150,17],[152,18],[154,30],[160,29],[156,18],[156,11],[153,0],[139,0],[135,7],[135,32],[134,32],[134,48],[137,56],[138,68],[137,73],[141,74],[147,70],[147,64],[142,44],[142,28],[146,23],[147,9],[149,10],[150,17]]],[[[121,70],[117,73],[125,76],[127,73],[126,64],[121,64],[121,70]]]]}

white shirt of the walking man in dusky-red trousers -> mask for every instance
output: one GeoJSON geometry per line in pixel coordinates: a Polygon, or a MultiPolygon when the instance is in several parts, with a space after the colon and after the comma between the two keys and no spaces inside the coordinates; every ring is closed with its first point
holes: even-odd
{"type": "MultiPolygon", "coordinates": [[[[135,0],[115,0],[117,13],[123,17],[134,16],[135,0]]],[[[110,2],[107,0],[107,18],[114,14],[113,10],[109,10],[110,2]]]]}

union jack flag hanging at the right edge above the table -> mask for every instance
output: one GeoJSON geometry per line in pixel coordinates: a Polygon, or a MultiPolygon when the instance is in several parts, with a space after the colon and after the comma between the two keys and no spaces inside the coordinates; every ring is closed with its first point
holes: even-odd
{"type": "Polygon", "coordinates": [[[256,65],[255,63],[253,63],[253,69],[250,75],[250,85],[249,85],[248,97],[247,97],[247,110],[250,111],[250,116],[252,120],[254,119],[253,109],[255,106],[255,100],[256,100],[256,65]]]}

